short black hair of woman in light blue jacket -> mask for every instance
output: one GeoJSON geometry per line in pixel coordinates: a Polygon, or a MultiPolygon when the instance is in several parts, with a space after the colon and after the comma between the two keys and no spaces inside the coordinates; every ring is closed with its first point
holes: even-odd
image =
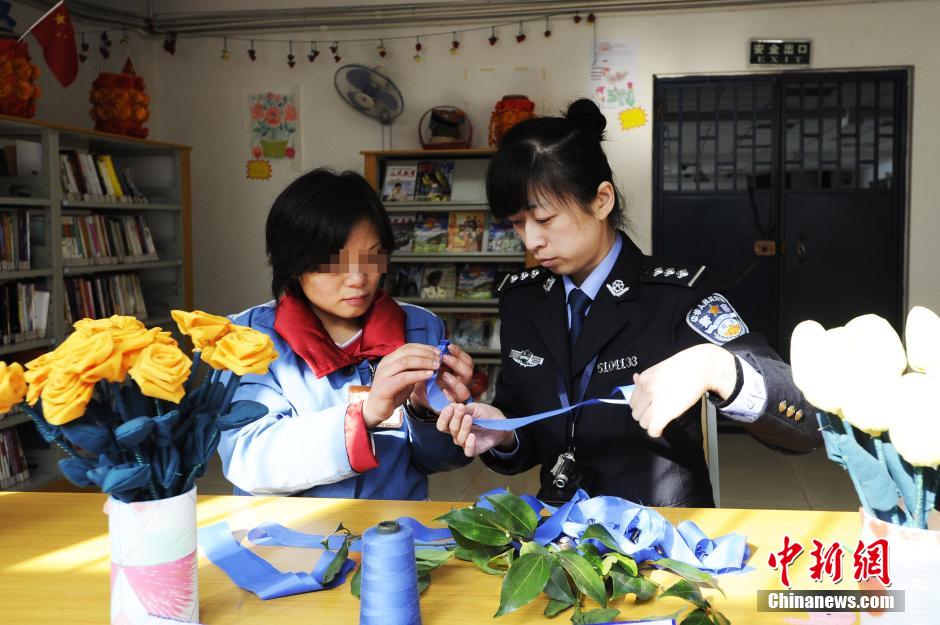
{"type": "Polygon", "coordinates": [[[375,228],[382,251],[391,253],[395,236],[388,213],[361,175],[324,167],[287,185],[274,200],[265,225],[274,299],[285,292],[303,299],[300,275],[332,262],[364,221],[375,228]]]}

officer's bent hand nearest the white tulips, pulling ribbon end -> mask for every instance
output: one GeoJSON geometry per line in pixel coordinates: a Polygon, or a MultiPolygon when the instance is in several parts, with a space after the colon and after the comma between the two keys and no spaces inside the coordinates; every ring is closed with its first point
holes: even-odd
{"type": "Polygon", "coordinates": [[[711,343],[682,350],[633,375],[633,418],[652,436],[711,391],[727,399],[736,382],[734,354],[711,343]]]}

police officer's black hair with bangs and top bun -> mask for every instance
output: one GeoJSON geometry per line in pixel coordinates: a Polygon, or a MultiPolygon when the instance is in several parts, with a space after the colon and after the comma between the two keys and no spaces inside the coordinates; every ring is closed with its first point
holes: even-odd
{"type": "Polygon", "coordinates": [[[529,206],[530,193],[573,199],[585,211],[604,181],[614,187],[613,228],[624,225],[620,192],[601,147],[607,118],[586,98],[564,117],[537,117],[509,129],[486,172],[490,211],[504,219],[529,206]]]}

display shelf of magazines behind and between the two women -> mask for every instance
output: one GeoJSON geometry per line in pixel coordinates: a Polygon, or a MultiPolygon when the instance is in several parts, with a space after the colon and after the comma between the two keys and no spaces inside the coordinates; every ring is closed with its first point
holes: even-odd
{"type": "Polygon", "coordinates": [[[438,314],[448,336],[482,365],[499,364],[497,285],[534,264],[511,224],[487,210],[484,179],[494,153],[362,153],[395,236],[385,290],[438,314]]]}

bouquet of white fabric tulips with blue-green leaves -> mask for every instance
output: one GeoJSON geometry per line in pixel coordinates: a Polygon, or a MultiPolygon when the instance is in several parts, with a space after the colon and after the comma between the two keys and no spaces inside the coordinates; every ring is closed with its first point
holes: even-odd
{"type": "Polygon", "coordinates": [[[924,529],[940,490],[940,318],[915,306],[904,334],[877,315],[829,330],[804,321],[790,359],[868,514],[924,529]]]}

